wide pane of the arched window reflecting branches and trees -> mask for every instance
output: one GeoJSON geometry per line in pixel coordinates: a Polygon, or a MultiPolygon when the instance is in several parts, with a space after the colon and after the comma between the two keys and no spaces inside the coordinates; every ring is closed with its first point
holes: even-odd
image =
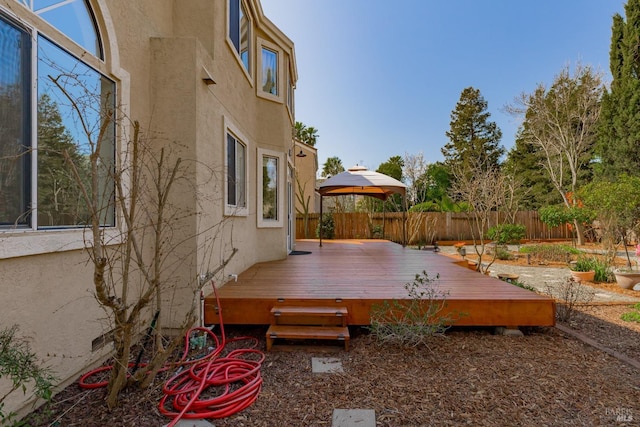
{"type": "Polygon", "coordinates": [[[114,99],[113,82],[47,39],[38,39],[38,227],[89,223],[91,209],[81,188],[91,195],[90,155],[95,152],[97,194],[92,204],[103,225],[115,225],[114,123],[100,133],[113,114],[114,99]]]}

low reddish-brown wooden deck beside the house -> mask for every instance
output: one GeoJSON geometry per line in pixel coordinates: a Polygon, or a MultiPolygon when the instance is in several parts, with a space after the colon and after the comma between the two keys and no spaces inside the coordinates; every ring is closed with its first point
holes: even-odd
{"type": "MultiPolygon", "coordinates": [[[[385,240],[298,240],[281,261],[259,263],[219,290],[225,324],[268,325],[283,306],[346,307],[348,325],[368,325],[373,304],[406,299],[404,285],[426,271],[439,275],[446,310],[465,313],[459,326],[552,326],[553,299],[482,275],[451,257],[403,248],[385,240]]],[[[213,294],[205,298],[206,324],[218,323],[213,294]]]]}

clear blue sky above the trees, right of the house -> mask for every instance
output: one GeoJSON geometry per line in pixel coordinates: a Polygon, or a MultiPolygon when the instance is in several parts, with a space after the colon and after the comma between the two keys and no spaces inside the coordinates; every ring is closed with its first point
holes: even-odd
{"type": "Polygon", "coordinates": [[[479,89],[513,146],[504,106],[580,62],[610,81],[623,0],[262,0],[295,43],[296,120],[318,129],[320,169],[377,169],[391,156],[442,160],[451,111],[479,89]]]}

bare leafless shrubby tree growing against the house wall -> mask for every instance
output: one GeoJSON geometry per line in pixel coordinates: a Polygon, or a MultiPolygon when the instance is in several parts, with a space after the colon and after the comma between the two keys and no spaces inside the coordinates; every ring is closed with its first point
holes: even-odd
{"type": "MultiPolygon", "coordinates": [[[[184,342],[185,333],[196,321],[202,285],[228,264],[237,249],[226,251],[223,259],[216,260],[217,266],[207,266],[204,277],[185,276],[185,271],[192,271],[190,267],[196,252],[213,253],[224,222],[224,218],[218,222],[209,221],[206,229],[195,231],[183,227],[193,223],[194,217],[204,210],[183,208],[174,199],[186,187],[197,192],[193,184],[195,161],[183,160],[178,154],[179,144],[175,142],[167,147],[162,147],[158,141],[152,144],[143,135],[138,122],[128,121],[121,109],[110,107],[113,104],[105,101],[111,94],[102,94],[100,99],[93,100],[93,108],[100,106],[96,109],[100,111],[98,117],[87,112],[86,106],[91,105],[87,99],[78,99],[78,93],[88,91],[70,88],[69,79],[51,77],[51,80],[71,103],[91,148],[88,153],[89,182],[82,179],[78,165],[69,153],[65,151],[63,155],[88,207],[87,232],[91,237],[86,239],[86,245],[93,264],[95,298],[107,313],[114,343],[114,362],[106,399],[112,408],[117,405],[124,388],[148,386],[173,350],[184,342]],[[99,122],[97,132],[94,132],[96,124],[89,123],[91,118],[99,122]],[[113,138],[114,124],[123,135],[125,145],[115,163],[103,156],[109,151],[105,146],[113,138]],[[113,194],[105,195],[105,177],[113,183],[113,194]],[[121,220],[115,237],[113,229],[103,226],[105,212],[114,208],[121,220]],[[207,238],[202,240],[209,247],[195,247],[197,237],[203,234],[207,238]],[[177,294],[180,294],[178,298],[177,294]],[[184,318],[174,321],[178,327],[173,337],[169,337],[163,334],[163,318],[177,308],[174,304],[180,304],[176,300],[190,303],[187,307],[182,303],[180,311],[184,318]],[[158,313],[165,313],[165,316],[158,313]],[[135,366],[132,372],[131,348],[145,320],[151,318],[154,318],[150,322],[154,330],[154,349],[149,361],[135,366]]],[[[78,80],[75,84],[81,85],[78,80]]],[[[213,181],[215,174],[212,168],[209,170],[213,181]]]]}

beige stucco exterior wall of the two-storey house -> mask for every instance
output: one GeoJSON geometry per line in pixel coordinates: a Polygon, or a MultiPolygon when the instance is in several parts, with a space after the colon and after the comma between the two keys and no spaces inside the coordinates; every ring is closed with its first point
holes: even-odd
{"type": "MultiPolygon", "coordinates": [[[[180,240],[172,253],[180,260],[177,286],[165,295],[165,325],[172,327],[194,303],[194,283],[234,249],[236,255],[214,277],[217,285],[256,262],[282,259],[292,249],[295,236],[287,232],[287,210],[293,207],[287,203],[286,177],[294,165],[289,98],[297,80],[294,46],[264,16],[259,0],[241,0],[252,28],[249,72],[228,37],[229,0],[87,3],[101,36],[104,61],[92,58],[20,0],[0,0],[0,14],[50,37],[76,57],[87,58],[90,66],[116,83],[122,116],[140,122],[154,151],[165,148],[172,159],[180,157],[185,163],[188,179],[178,184],[171,198],[184,212],[172,225],[173,237],[180,240]],[[265,96],[259,82],[261,46],[278,54],[275,97],[265,96]],[[242,214],[225,209],[229,132],[246,145],[247,206],[242,214]],[[261,218],[263,155],[278,160],[277,221],[261,218]]],[[[130,131],[126,126],[119,130],[119,150],[126,147],[130,131]]],[[[61,386],[101,363],[110,351],[109,345],[97,345],[111,326],[93,296],[86,238],[80,228],[0,228],[0,326],[18,324],[20,335],[56,372],[61,386]]],[[[203,286],[211,291],[210,283],[203,286]]],[[[0,379],[0,395],[7,386],[4,381],[0,379]]],[[[13,393],[5,411],[28,410],[30,398],[13,393]]]]}

